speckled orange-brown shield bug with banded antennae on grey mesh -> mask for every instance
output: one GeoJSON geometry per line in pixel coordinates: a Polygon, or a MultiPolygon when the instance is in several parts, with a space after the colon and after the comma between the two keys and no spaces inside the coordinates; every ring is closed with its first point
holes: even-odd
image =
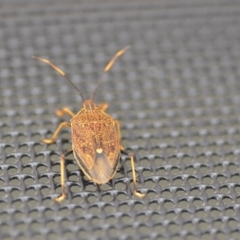
{"type": "Polygon", "coordinates": [[[56,110],[55,113],[60,117],[65,114],[70,115],[72,117],[70,123],[62,122],[50,139],[43,139],[44,143],[51,144],[55,141],[58,133],[63,127],[69,127],[72,129],[72,149],[67,151],[65,154],[62,154],[60,157],[62,195],[55,199],[57,202],[62,201],[67,196],[65,189],[64,162],[65,157],[72,152],[80,169],[90,180],[97,184],[104,184],[112,179],[117,171],[121,153],[128,155],[131,159],[133,172],[133,194],[138,197],[145,196],[145,194],[139,193],[136,190],[134,155],[130,152],[126,152],[121,145],[120,123],[105,113],[108,108],[107,104],[104,103],[97,106],[94,103],[94,96],[103,79],[104,73],[108,72],[117,58],[129,48],[130,46],[127,46],[118,51],[112,60],[107,64],[100,77],[97,87],[89,100],[85,100],[81,91],[61,69],[46,59],[33,57],[49,64],[58,73],[64,76],[78,91],[83,102],[82,108],[77,114],[73,113],[66,107],[61,110],[56,110]]]}

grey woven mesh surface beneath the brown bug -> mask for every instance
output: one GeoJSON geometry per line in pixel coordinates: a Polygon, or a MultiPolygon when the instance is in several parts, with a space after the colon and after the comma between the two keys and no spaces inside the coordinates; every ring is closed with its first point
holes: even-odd
{"type": "Polygon", "coordinates": [[[239,1],[2,1],[0,239],[240,239],[239,1]],[[97,94],[136,155],[97,187],[67,157],[54,110],[90,96],[107,61],[132,45],[97,94]]]}

